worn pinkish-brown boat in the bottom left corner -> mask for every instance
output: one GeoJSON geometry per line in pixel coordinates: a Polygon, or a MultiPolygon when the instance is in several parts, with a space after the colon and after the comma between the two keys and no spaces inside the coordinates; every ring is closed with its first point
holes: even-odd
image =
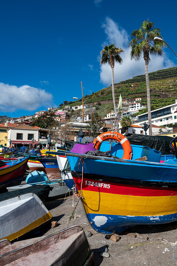
{"type": "Polygon", "coordinates": [[[0,241],[0,246],[2,266],[94,265],[94,255],[81,226],[12,244],[9,240],[3,239],[0,241]]]}

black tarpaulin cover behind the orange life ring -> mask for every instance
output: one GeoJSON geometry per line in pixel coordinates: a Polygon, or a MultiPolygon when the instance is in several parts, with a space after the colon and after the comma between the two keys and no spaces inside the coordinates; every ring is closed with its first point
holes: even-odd
{"type": "Polygon", "coordinates": [[[162,155],[171,154],[170,142],[173,138],[169,136],[148,136],[141,134],[126,134],[130,144],[147,146],[151,149],[160,151],[162,155]]]}

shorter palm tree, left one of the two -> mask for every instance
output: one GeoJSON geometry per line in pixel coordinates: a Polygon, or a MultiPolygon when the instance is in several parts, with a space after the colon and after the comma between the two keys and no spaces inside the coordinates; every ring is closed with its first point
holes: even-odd
{"type": "Polygon", "coordinates": [[[105,46],[104,49],[100,52],[101,54],[101,65],[109,64],[112,69],[112,94],[113,94],[113,103],[114,103],[114,112],[116,114],[116,100],[114,94],[114,63],[122,64],[123,60],[120,57],[120,53],[124,53],[121,48],[117,48],[114,43],[109,46],[105,46]]]}

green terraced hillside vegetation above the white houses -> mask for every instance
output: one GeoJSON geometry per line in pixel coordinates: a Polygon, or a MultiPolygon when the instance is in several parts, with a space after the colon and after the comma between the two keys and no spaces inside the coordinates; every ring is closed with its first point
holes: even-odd
{"type": "MultiPolygon", "coordinates": [[[[150,80],[150,96],[151,96],[151,110],[170,105],[175,103],[177,96],[177,67],[158,70],[156,72],[149,73],[150,80]]],[[[118,102],[120,93],[122,99],[135,99],[138,97],[142,98],[142,105],[147,104],[146,98],[146,82],[145,75],[133,77],[129,80],[121,81],[115,84],[115,97],[118,102]]],[[[110,111],[110,102],[108,107],[105,101],[112,101],[112,87],[103,88],[98,92],[84,96],[86,103],[100,102],[101,106],[104,107],[102,110],[98,110],[101,116],[104,116],[110,111]]],[[[68,102],[71,106],[81,105],[80,100],[68,102]]],[[[63,107],[63,106],[62,106],[63,107]]],[[[101,109],[101,107],[99,107],[101,109]]],[[[146,112],[145,109],[139,113],[146,112]]],[[[137,115],[137,114],[136,114],[137,115]]]]}

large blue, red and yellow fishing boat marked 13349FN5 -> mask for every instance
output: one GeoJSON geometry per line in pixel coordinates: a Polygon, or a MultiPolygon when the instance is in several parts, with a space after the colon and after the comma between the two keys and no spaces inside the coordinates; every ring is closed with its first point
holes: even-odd
{"type": "MultiPolygon", "coordinates": [[[[126,153],[132,157],[133,148],[125,136],[117,132],[104,134],[105,138],[118,135],[120,144],[127,145],[115,144],[118,149],[112,155],[124,157],[126,153]]],[[[94,140],[94,146],[103,142],[102,137],[94,140]]],[[[92,227],[102,234],[121,232],[138,224],[177,221],[177,164],[159,163],[158,151],[143,151],[143,147],[139,151],[139,154],[151,153],[151,160],[124,157],[115,161],[109,157],[66,153],[85,214],[92,227]],[[79,168],[80,158],[84,158],[83,169],[83,159],[79,168]]]]}

